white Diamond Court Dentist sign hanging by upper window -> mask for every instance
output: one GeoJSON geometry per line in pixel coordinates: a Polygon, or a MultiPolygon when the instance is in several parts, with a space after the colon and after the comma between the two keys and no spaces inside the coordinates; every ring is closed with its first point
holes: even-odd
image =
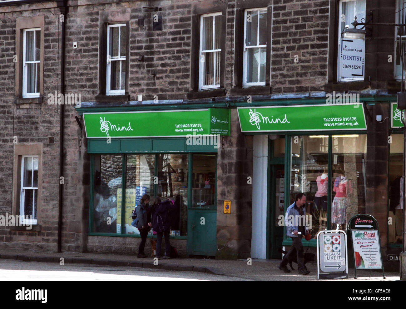
{"type": "Polygon", "coordinates": [[[364,79],[365,40],[341,39],[340,77],[364,79]]]}

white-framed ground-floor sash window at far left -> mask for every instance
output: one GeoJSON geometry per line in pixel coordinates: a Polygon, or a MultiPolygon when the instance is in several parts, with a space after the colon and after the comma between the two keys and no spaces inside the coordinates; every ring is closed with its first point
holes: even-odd
{"type": "Polygon", "coordinates": [[[37,224],[38,156],[22,156],[20,187],[20,223],[37,224]]]}

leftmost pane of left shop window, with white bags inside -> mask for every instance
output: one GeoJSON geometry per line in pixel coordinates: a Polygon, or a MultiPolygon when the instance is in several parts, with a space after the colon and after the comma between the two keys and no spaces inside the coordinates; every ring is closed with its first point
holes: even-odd
{"type": "Polygon", "coordinates": [[[95,156],[93,232],[117,233],[117,195],[121,194],[122,156],[95,156]],[[109,224],[110,223],[110,224],[109,224]]]}

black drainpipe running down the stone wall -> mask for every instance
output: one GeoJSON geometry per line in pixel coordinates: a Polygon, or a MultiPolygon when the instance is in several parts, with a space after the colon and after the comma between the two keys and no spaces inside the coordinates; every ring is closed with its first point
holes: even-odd
{"type": "MultiPolygon", "coordinates": [[[[60,9],[60,14],[63,15],[64,21],[61,29],[61,52],[60,52],[60,92],[65,94],[65,23],[67,15],[67,0],[56,1],[56,5],[60,9]]],[[[63,174],[63,124],[64,124],[65,105],[60,105],[60,122],[59,122],[59,177],[63,174]]],[[[58,252],[61,252],[62,243],[62,196],[63,184],[59,181],[59,204],[58,204],[58,252]]]]}

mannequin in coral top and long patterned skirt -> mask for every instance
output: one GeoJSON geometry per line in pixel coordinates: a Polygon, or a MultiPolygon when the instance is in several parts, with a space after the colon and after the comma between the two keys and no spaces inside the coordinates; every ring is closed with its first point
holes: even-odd
{"type": "Polygon", "coordinates": [[[351,181],[345,176],[344,171],[334,182],[335,197],[331,205],[331,222],[338,224],[346,223],[347,190],[351,190],[351,181]]]}

